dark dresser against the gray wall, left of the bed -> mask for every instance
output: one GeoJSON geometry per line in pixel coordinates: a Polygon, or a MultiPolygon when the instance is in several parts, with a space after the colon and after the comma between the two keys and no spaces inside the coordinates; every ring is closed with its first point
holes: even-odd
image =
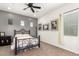
{"type": "Polygon", "coordinates": [[[0,36],[0,46],[11,45],[11,36],[0,36]]]}

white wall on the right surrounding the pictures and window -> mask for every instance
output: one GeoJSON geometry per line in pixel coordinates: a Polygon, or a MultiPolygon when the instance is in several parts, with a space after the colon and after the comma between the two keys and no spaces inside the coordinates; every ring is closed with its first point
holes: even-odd
{"type": "Polygon", "coordinates": [[[58,32],[54,30],[48,31],[38,31],[38,34],[41,36],[41,41],[55,45],[57,47],[72,51],[79,54],[79,34],[77,37],[67,37],[63,35],[63,13],[79,8],[79,4],[65,4],[62,7],[49,11],[46,15],[38,19],[38,24],[50,24],[50,22],[62,15],[61,18],[61,44],[59,43],[58,32]]]}

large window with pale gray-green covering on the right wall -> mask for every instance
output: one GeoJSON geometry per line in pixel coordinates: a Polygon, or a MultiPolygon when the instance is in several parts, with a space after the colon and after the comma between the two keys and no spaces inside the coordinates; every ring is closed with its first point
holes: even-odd
{"type": "Polygon", "coordinates": [[[64,15],[64,35],[77,36],[78,12],[64,15]]]}

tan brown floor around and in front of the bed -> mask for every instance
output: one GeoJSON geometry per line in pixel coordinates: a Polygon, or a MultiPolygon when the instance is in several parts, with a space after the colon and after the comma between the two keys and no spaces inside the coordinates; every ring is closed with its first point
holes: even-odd
{"type": "MultiPolygon", "coordinates": [[[[10,46],[0,46],[0,56],[14,56],[14,52],[10,46]]],[[[20,51],[18,56],[78,56],[78,54],[41,42],[40,48],[20,51]]]]}

